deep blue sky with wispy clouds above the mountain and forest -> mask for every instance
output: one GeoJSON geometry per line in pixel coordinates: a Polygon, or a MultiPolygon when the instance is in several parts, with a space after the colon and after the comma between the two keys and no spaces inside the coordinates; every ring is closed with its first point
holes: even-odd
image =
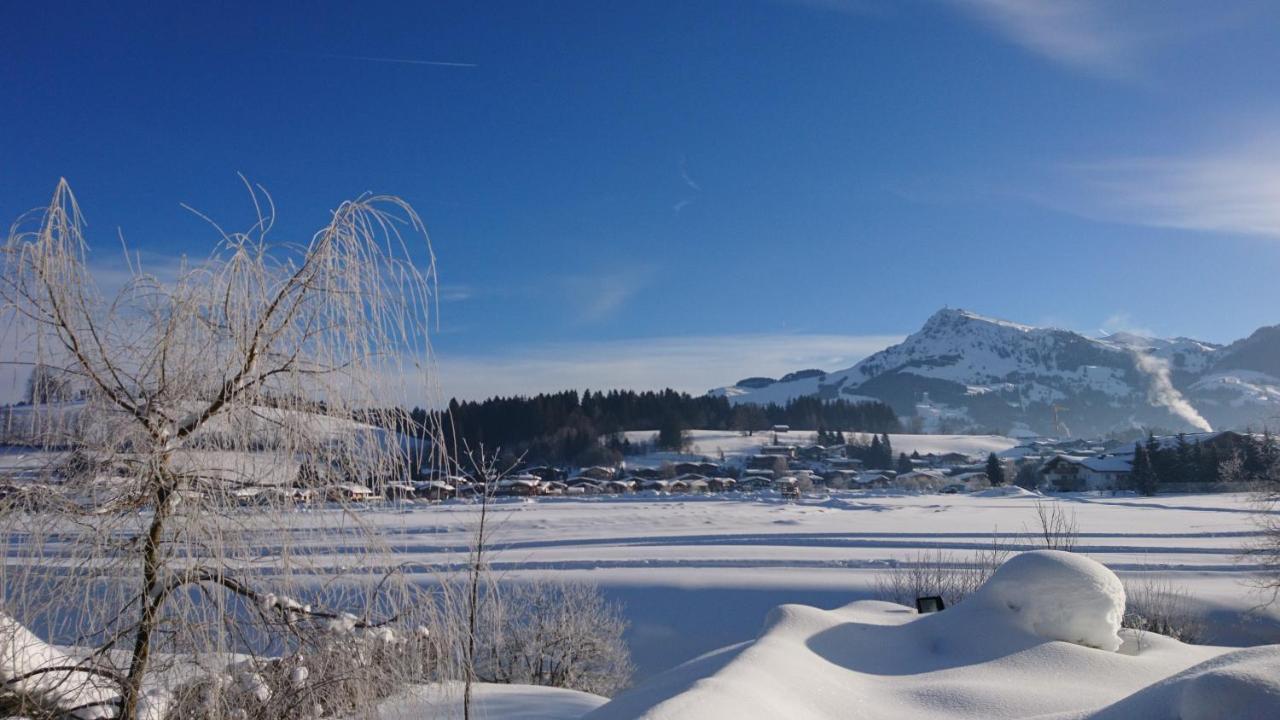
{"type": "Polygon", "coordinates": [[[9,9],[0,217],[65,176],[110,272],[247,225],[236,173],[278,240],[401,195],[447,395],[836,369],[943,305],[1280,322],[1275,4],[205,5],[9,9]]]}

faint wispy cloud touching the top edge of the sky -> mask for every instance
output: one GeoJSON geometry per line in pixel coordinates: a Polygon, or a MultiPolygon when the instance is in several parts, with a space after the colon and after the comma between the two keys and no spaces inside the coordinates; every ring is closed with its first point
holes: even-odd
{"type": "Polygon", "coordinates": [[[1139,38],[1098,0],[951,0],[992,29],[1055,63],[1098,76],[1135,72],[1139,38]]]}

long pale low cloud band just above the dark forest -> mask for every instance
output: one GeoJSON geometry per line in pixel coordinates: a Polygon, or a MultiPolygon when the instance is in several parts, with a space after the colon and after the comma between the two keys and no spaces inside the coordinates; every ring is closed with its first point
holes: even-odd
{"type": "Polygon", "coordinates": [[[588,387],[673,387],[701,393],[750,375],[847,368],[901,340],[901,336],[831,334],[655,337],[511,347],[500,355],[445,352],[436,360],[444,398],[588,387]]]}

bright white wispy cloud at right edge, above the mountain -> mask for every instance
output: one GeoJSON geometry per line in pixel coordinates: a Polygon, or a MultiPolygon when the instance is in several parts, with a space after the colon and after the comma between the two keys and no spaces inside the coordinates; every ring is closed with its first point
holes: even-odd
{"type": "Polygon", "coordinates": [[[1280,135],[1231,147],[1068,167],[1048,202],[1106,220],[1280,237],[1280,135]]]}

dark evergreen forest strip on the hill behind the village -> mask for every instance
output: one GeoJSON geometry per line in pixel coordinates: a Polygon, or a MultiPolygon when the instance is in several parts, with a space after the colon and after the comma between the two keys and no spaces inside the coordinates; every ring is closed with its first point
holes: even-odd
{"type": "MultiPolygon", "coordinates": [[[[413,410],[417,421],[426,411],[413,410]]],[[[484,401],[453,400],[442,416],[444,437],[476,448],[503,448],[526,454],[538,462],[594,464],[611,459],[599,438],[623,430],[657,430],[678,438],[691,428],[760,430],[776,424],[794,429],[897,432],[897,415],[882,402],[823,401],[799,397],[786,405],[739,405],[724,397],[691,396],[673,389],[660,392],[564,391],[531,397],[494,397],[484,401]]],[[[623,441],[611,443],[626,450],[623,441]]]]}

